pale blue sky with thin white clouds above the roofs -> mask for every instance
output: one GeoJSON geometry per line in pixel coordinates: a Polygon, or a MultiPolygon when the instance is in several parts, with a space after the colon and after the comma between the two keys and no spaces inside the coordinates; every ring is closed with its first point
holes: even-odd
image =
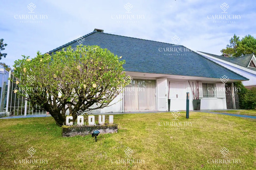
{"type": "Polygon", "coordinates": [[[234,34],[256,37],[255,0],[0,2],[0,38],[8,44],[0,62],[12,68],[22,55],[34,58],[95,28],[217,55],[234,34]]]}

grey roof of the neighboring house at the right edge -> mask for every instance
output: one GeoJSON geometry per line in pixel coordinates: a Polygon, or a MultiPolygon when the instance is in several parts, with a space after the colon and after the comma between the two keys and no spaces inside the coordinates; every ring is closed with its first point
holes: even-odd
{"type": "Polygon", "coordinates": [[[218,56],[218,55],[205,53],[205,52],[200,52],[200,53],[204,53],[204,54],[207,54],[209,56],[216,57],[218,59],[221,59],[221,60],[233,63],[233,64],[237,64],[237,65],[240,65],[242,67],[245,67],[245,68],[256,71],[256,68],[248,67],[248,65],[251,61],[251,58],[253,57],[253,54],[248,54],[248,55],[241,56],[241,57],[223,57],[223,56],[218,56]]]}

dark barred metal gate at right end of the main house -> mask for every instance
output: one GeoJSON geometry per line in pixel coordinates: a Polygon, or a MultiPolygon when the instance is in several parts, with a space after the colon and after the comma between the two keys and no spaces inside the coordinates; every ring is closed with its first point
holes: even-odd
{"type": "Polygon", "coordinates": [[[239,109],[238,88],[233,83],[225,84],[227,109],[239,109]]]}

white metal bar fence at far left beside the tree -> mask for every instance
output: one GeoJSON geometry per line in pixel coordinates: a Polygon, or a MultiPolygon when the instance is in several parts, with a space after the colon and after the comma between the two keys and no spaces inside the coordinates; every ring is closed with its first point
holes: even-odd
{"type": "Polygon", "coordinates": [[[10,112],[10,115],[26,116],[34,114],[47,114],[47,112],[41,109],[38,105],[32,107],[30,102],[25,100],[24,96],[18,95],[14,92],[15,90],[18,90],[19,92],[25,94],[24,90],[21,90],[15,83],[17,79],[13,76],[11,71],[9,71],[9,79],[12,80],[12,82],[8,80],[6,111],[10,112]]]}

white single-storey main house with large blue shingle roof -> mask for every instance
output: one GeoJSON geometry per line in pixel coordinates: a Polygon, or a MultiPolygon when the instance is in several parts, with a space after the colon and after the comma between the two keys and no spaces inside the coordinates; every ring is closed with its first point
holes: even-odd
{"type": "Polygon", "coordinates": [[[193,110],[191,86],[199,82],[201,109],[226,109],[225,86],[221,77],[229,82],[247,81],[244,76],[189,50],[185,46],[152,40],[104,33],[95,29],[67,44],[50,51],[79,44],[98,45],[122,56],[126,75],[133,80],[124,88],[114,105],[96,112],[167,111],[186,109],[186,92],[189,92],[189,109],[193,110]],[[189,85],[190,83],[190,85],[189,85]]]}

